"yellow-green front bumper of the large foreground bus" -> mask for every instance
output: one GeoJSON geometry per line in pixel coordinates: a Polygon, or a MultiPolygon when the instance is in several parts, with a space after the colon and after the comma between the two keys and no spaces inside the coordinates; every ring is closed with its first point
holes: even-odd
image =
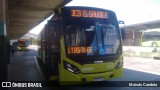
{"type": "Polygon", "coordinates": [[[94,81],[106,81],[111,78],[120,78],[122,76],[123,66],[119,69],[114,69],[112,71],[103,72],[103,73],[94,73],[94,74],[73,74],[67,70],[64,70],[65,76],[60,76],[60,82],[62,84],[76,84],[76,83],[85,83],[85,82],[94,82],[94,81]],[[64,82],[63,82],[64,81],[64,82]],[[65,81],[69,81],[70,83],[66,83],[65,81]]]}

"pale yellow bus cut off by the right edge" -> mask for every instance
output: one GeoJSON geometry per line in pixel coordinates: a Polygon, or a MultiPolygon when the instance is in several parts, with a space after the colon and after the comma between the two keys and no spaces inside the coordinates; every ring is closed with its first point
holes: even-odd
{"type": "Polygon", "coordinates": [[[149,29],[142,33],[141,45],[146,47],[160,46],[160,29],[149,29]]]}

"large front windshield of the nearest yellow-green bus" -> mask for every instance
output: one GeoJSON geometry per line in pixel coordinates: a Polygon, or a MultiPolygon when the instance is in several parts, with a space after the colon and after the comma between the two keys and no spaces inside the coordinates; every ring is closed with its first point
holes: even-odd
{"type": "Polygon", "coordinates": [[[80,12],[72,12],[71,16],[65,15],[63,19],[67,55],[102,56],[122,52],[119,27],[113,12],[81,8],[80,12]],[[86,11],[86,15],[83,15],[83,11],[86,11]],[[103,15],[90,16],[87,12],[92,11],[102,12],[103,15]]]}

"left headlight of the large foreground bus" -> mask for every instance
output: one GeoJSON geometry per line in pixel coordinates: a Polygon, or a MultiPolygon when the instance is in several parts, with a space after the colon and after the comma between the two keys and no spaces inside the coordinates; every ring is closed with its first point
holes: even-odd
{"type": "Polygon", "coordinates": [[[80,70],[79,70],[76,66],[74,66],[74,65],[72,65],[72,64],[70,64],[70,63],[68,63],[68,62],[65,62],[65,61],[64,61],[64,68],[65,68],[66,70],[74,73],[74,74],[80,73],[80,70]]]}

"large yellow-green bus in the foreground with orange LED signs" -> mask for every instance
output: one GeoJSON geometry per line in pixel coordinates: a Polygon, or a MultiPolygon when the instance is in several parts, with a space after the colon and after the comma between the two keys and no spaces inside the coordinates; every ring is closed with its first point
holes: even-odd
{"type": "Polygon", "coordinates": [[[39,57],[47,80],[94,82],[122,75],[123,38],[113,11],[62,7],[39,39],[39,57]]]}

